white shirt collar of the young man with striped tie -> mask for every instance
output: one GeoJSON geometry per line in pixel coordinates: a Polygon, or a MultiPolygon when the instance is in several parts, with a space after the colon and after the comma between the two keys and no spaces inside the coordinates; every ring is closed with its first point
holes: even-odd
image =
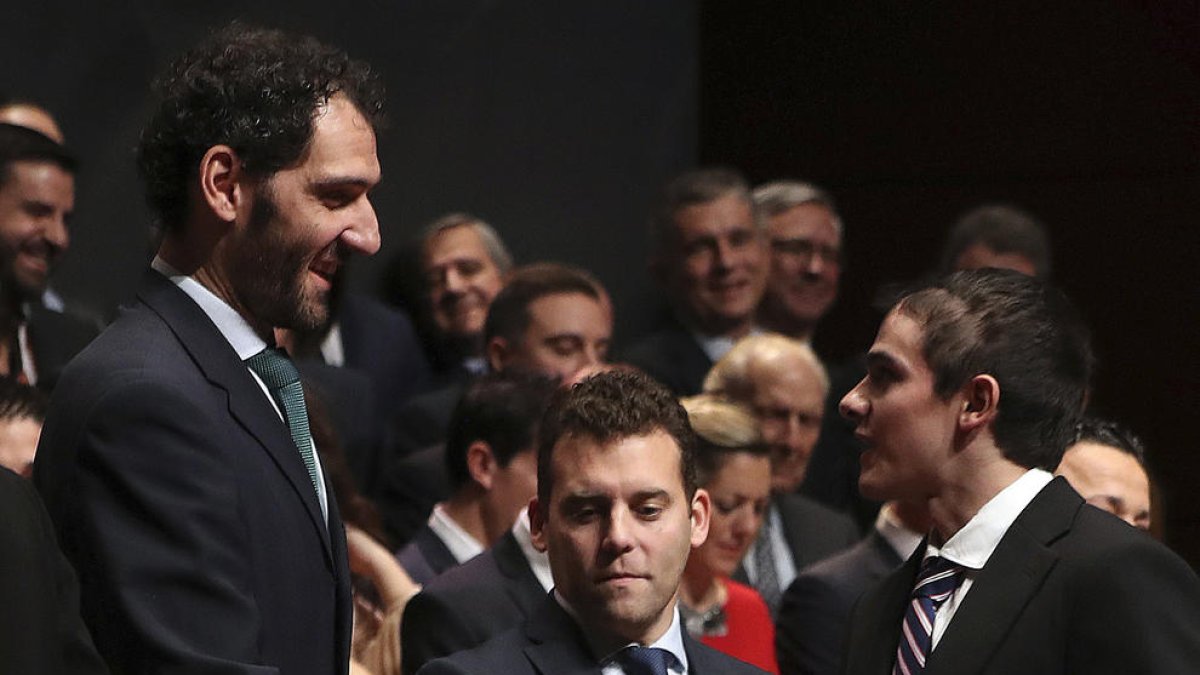
{"type": "Polygon", "coordinates": [[[1050,472],[1040,468],[1026,471],[995,497],[988,500],[979,513],[955,532],[940,550],[930,545],[925,557],[940,555],[968,569],[983,569],[1016,516],[1052,479],[1050,472]]]}

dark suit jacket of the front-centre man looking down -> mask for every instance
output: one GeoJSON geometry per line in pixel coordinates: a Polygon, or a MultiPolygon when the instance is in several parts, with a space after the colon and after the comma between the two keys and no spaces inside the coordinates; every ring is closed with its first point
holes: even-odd
{"type": "MultiPolygon", "coordinates": [[[[762,670],[692,640],[684,632],[692,675],[762,675],[762,670]]],[[[578,625],[546,596],[533,617],[469,651],[430,662],[421,675],[600,675],[578,625]]]]}

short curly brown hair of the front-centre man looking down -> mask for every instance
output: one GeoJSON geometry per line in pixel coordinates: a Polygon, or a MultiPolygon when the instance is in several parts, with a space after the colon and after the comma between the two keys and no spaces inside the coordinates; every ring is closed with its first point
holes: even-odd
{"type": "Polygon", "coordinates": [[[538,437],[538,501],[550,504],[554,446],[565,436],[598,443],[662,431],[679,446],[684,494],[696,494],[696,432],[688,412],[665,387],[641,372],[607,371],[559,389],[541,418],[538,437]]]}

